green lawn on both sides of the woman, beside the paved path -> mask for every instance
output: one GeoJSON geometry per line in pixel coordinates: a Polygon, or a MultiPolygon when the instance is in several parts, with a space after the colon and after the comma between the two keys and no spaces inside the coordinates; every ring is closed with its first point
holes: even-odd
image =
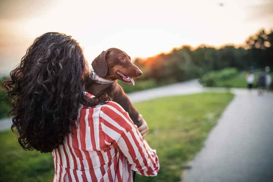
{"type": "MultiPolygon", "coordinates": [[[[136,103],[150,128],[146,139],[157,150],[160,160],[157,177],[136,175],[136,181],[179,181],[186,163],[201,149],[208,132],[232,99],[231,93],[201,93],[136,103]]],[[[0,141],[0,181],[52,181],[51,153],[24,151],[10,131],[0,133],[0,141]]]]}

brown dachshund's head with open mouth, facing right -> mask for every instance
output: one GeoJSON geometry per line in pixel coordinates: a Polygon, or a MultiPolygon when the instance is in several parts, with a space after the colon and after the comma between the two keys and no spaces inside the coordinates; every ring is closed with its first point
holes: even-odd
{"type": "Polygon", "coordinates": [[[96,74],[102,78],[120,79],[124,83],[132,83],[133,78],[142,75],[142,71],[131,62],[130,56],[120,49],[110,48],[103,51],[92,62],[96,74]]]}

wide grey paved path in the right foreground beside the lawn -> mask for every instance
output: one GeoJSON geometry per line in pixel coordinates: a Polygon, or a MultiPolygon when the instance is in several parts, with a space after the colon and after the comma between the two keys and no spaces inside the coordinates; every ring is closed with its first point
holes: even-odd
{"type": "Polygon", "coordinates": [[[273,181],[273,94],[233,91],[183,182],[273,181]]]}

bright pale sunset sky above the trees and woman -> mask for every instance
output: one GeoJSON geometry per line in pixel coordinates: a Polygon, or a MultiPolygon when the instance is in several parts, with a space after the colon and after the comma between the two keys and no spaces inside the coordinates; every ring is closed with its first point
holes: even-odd
{"type": "Polygon", "coordinates": [[[1,0],[0,75],[45,32],[72,35],[91,63],[111,47],[145,58],[184,44],[240,44],[273,28],[272,12],[272,0],[1,0]]]}

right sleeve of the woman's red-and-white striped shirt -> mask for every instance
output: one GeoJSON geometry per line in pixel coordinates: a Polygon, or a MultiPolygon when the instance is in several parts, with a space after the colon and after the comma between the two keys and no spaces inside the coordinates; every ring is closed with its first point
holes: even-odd
{"type": "Polygon", "coordinates": [[[109,102],[100,111],[100,121],[105,133],[105,142],[127,158],[131,169],[142,176],[156,176],[159,160],[156,150],[147,148],[129,114],[117,103],[109,102]]]}

